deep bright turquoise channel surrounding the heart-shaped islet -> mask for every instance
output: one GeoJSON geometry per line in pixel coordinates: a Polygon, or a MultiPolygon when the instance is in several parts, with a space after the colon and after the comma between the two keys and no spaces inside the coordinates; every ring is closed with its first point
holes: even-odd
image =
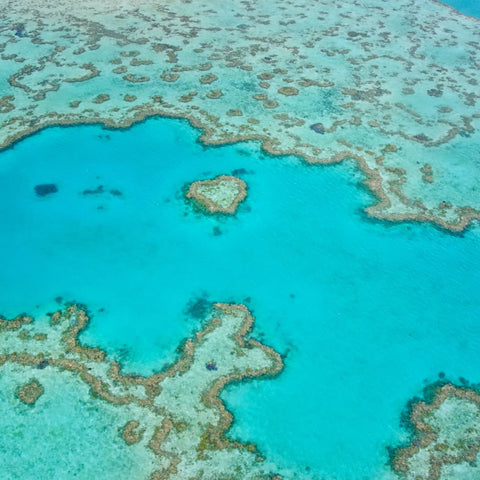
{"type": "Polygon", "coordinates": [[[231,435],[314,478],[384,478],[406,402],[441,371],[480,381],[479,229],[372,222],[353,164],[205,148],[197,136],[154,119],[52,128],[2,152],[0,310],[84,302],[84,341],[146,373],[198,327],[189,303],[245,302],[286,366],[227,389],[231,435]],[[185,183],[232,172],[249,185],[236,218],[185,205],[185,183]],[[36,196],[44,183],[58,192],[36,196]]]}

